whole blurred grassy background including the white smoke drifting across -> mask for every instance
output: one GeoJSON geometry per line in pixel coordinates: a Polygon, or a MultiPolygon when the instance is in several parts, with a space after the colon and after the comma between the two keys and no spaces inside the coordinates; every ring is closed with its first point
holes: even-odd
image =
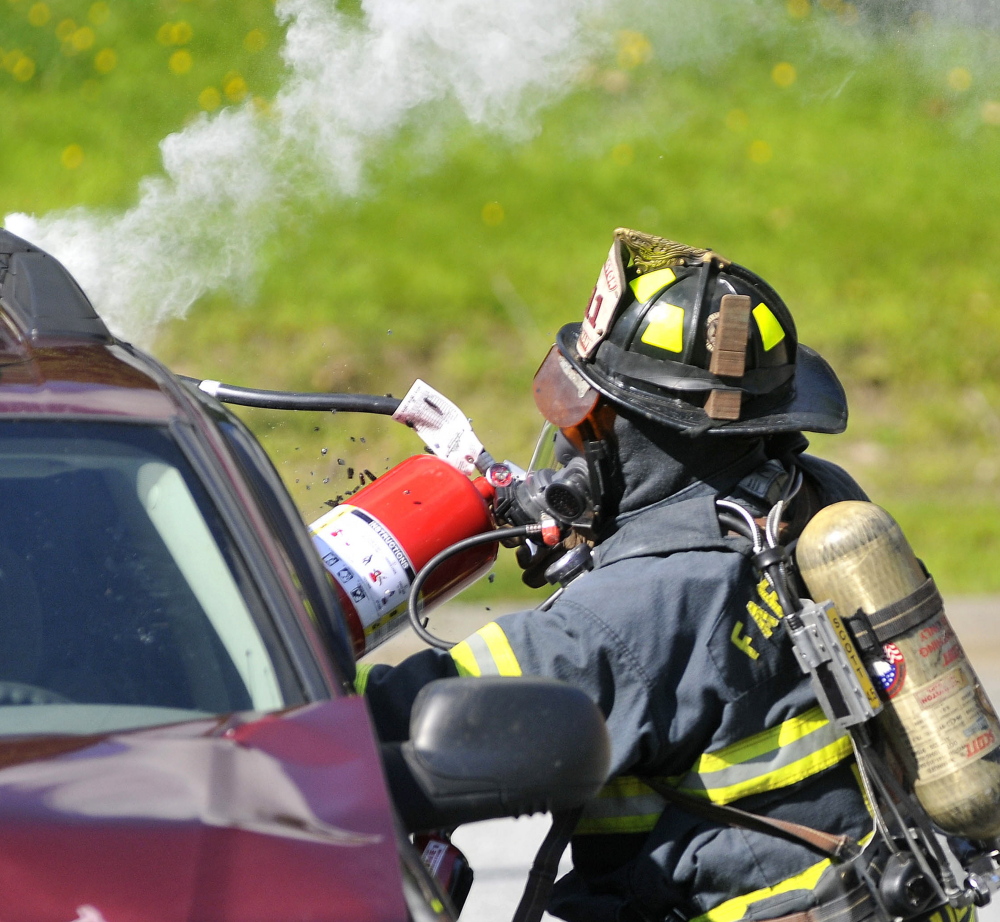
{"type": "MultiPolygon", "coordinates": [[[[422,377],[522,465],[614,228],[712,247],[844,381],[848,431],[813,450],[946,595],[1000,589],[991,0],[501,6],[0,0],[0,216],[175,371],[422,377]]],[[[243,415],[308,520],[422,448],[243,415]]],[[[495,579],[470,598],[522,591],[495,579]]]]}

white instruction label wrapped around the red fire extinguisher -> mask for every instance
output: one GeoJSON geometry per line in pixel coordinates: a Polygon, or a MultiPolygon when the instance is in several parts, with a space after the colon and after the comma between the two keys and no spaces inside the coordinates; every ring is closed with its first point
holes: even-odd
{"type": "Polygon", "coordinates": [[[323,565],[357,610],[366,638],[374,642],[391,633],[390,621],[406,603],[414,578],[393,534],[364,510],[346,504],[313,522],[310,532],[323,565]]]}

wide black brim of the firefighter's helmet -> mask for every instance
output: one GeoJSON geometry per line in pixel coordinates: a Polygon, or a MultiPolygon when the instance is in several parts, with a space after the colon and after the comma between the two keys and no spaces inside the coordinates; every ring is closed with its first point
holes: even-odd
{"type": "MultiPolygon", "coordinates": [[[[847,396],[833,369],[819,353],[798,344],[795,375],[777,394],[743,402],[740,418],[712,420],[686,400],[629,386],[584,361],[576,350],[580,324],[570,323],[556,335],[559,351],[583,378],[612,403],[673,429],[728,435],[777,432],[843,432],[847,428],[847,396]]],[[[598,357],[600,351],[598,350],[598,357]]]]}

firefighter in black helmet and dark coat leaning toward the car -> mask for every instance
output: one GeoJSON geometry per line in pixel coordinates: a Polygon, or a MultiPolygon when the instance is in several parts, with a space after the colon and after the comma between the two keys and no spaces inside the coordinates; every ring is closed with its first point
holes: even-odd
{"type": "Polygon", "coordinates": [[[362,665],[381,737],[406,737],[413,698],[435,678],[562,679],[603,710],[612,772],[576,826],[551,913],[735,922],[835,905],[847,884],[830,859],[653,789],[871,837],[850,741],[817,706],[750,542],[716,506],[762,520],[800,472],[790,542],[822,506],[865,499],[804,453],[803,430],[846,426],[835,374],[758,275],[619,229],[584,322],[559,331],[535,396],[596,485],[594,569],[549,607],[501,616],[449,652],[362,665]]]}

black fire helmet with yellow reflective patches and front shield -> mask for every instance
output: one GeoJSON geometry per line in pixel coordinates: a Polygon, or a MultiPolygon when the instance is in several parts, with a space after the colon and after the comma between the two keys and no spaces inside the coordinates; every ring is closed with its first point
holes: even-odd
{"type": "Polygon", "coordinates": [[[847,425],[840,381],[799,343],[767,282],[711,250],[627,228],[615,231],[583,323],[559,331],[543,367],[558,358],[570,383],[576,372],[612,404],[691,435],[847,425]]]}

